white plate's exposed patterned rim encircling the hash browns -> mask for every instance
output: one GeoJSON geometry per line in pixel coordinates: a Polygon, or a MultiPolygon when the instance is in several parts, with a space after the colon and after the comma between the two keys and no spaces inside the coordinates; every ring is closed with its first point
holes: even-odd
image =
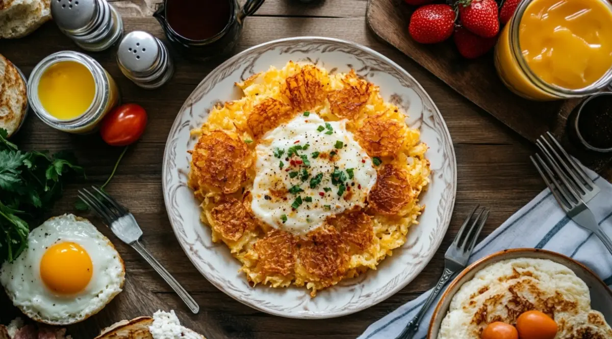
{"type": "Polygon", "coordinates": [[[223,62],[185,101],[168,135],[163,158],[163,194],[174,233],[187,256],[211,283],[258,310],[291,318],[330,318],[348,315],[387,299],[408,285],[438,249],[452,215],[457,189],[457,163],[449,131],[424,89],[400,66],[382,54],[355,43],[323,37],[296,37],[263,43],[223,62]],[[430,147],[431,183],[421,195],[425,212],[412,226],[406,244],[378,266],[353,280],[319,291],[310,298],[305,288],[248,285],[238,272],[239,261],[225,245],[211,241],[200,222],[200,207],[187,187],[190,155],[196,140],[190,130],[200,127],[214,103],[239,99],[234,82],[289,61],[305,61],[333,72],[356,72],[380,86],[385,100],[400,107],[409,125],[419,127],[430,147]]]}

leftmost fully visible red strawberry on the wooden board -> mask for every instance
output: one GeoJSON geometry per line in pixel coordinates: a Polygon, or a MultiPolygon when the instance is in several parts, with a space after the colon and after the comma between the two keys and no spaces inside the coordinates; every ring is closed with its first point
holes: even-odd
{"type": "Polygon", "coordinates": [[[453,34],[456,18],[449,5],[425,5],[412,13],[408,32],[416,42],[442,42],[453,34]]]}

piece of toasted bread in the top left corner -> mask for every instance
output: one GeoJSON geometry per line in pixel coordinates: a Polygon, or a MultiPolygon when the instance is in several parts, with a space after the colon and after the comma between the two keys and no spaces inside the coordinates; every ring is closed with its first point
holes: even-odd
{"type": "Polygon", "coordinates": [[[24,37],[51,19],[51,0],[0,0],[0,39],[24,37]]]}

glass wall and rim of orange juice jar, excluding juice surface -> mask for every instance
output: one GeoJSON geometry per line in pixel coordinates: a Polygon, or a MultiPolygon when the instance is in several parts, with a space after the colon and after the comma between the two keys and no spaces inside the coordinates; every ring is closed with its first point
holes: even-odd
{"type": "MultiPolygon", "coordinates": [[[[580,89],[567,89],[547,83],[529,68],[520,47],[519,33],[521,20],[523,20],[526,9],[530,4],[537,1],[540,0],[521,0],[512,19],[499,35],[495,47],[495,68],[507,88],[526,99],[544,101],[584,97],[599,92],[610,84],[612,67],[599,80],[580,89]]],[[[612,11],[610,2],[606,0],[592,1],[602,1],[612,11]]],[[[612,25],[612,23],[610,24],[612,25]]]]}

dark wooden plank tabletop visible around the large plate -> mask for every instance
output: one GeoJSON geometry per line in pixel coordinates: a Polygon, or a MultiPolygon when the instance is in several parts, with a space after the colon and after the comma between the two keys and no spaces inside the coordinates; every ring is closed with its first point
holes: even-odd
{"type": "MultiPolygon", "coordinates": [[[[163,32],[151,17],[160,0],[113,1],[124,15],[126,32],[163,32]]],[[[182,103],[198,83],[222,60],[190,62],[174,55],[176,73],[170,84],[146,91],[119,71],[113,51],[90,53],[113,75],[123,102],[135,102],[149,113],[143,138],[130,147],[108,192],[127,204],[144,231],[144,245],[192,294],[201,306],[192,315],[166,283],[138,256],[122,244],[99,220],[100,231],[113,240],[125,261],[124,292],[98,315],[69,327],[75,339],[91,339],[99,330],[121,319],[151,315],[155,310],[174,309],[186,326],[209,339],[244,338],[355,338],[367,326],[435,285],[441,275],[444,251],[474,204],[491,207],[482,237],[491,233],[545,186],[529,162],[535,147],[496,121],[485,111],[454,92],[411,59],[375,39],[365,24],[365,0],[327,0],[302,4],[292,0],[267,0],[256,15],[247,18],[237,51],[283,37],[321,35],[351,40],[373,48],[394,60],[431,95],[450,130],[457,153],[458,188],[455,214],[441,247],[422,274],[406,288],[381,304],[337,319],[297,320],[267,315],[242,305],[212,286],[193,267],[181,250],[168,222],[162,196],[162,156],[166,137],[182,103]]],[[[0,53],[29,74],[43,57],[61,50],[78,50],[53,23],[19,40],[0,40],[0,53]]],[[[53,214],[76,212],[76,189],[84,184],[102,184],[121,152],[106,146],[98,135],[77,136],[47,127],[34,115],[28,117],[14,138],[23,149],[72,149],[86,168],[88,179],[70,184],[53,214]]],[[[0,292],[0,323],[18,314],[0,292]]]]}

